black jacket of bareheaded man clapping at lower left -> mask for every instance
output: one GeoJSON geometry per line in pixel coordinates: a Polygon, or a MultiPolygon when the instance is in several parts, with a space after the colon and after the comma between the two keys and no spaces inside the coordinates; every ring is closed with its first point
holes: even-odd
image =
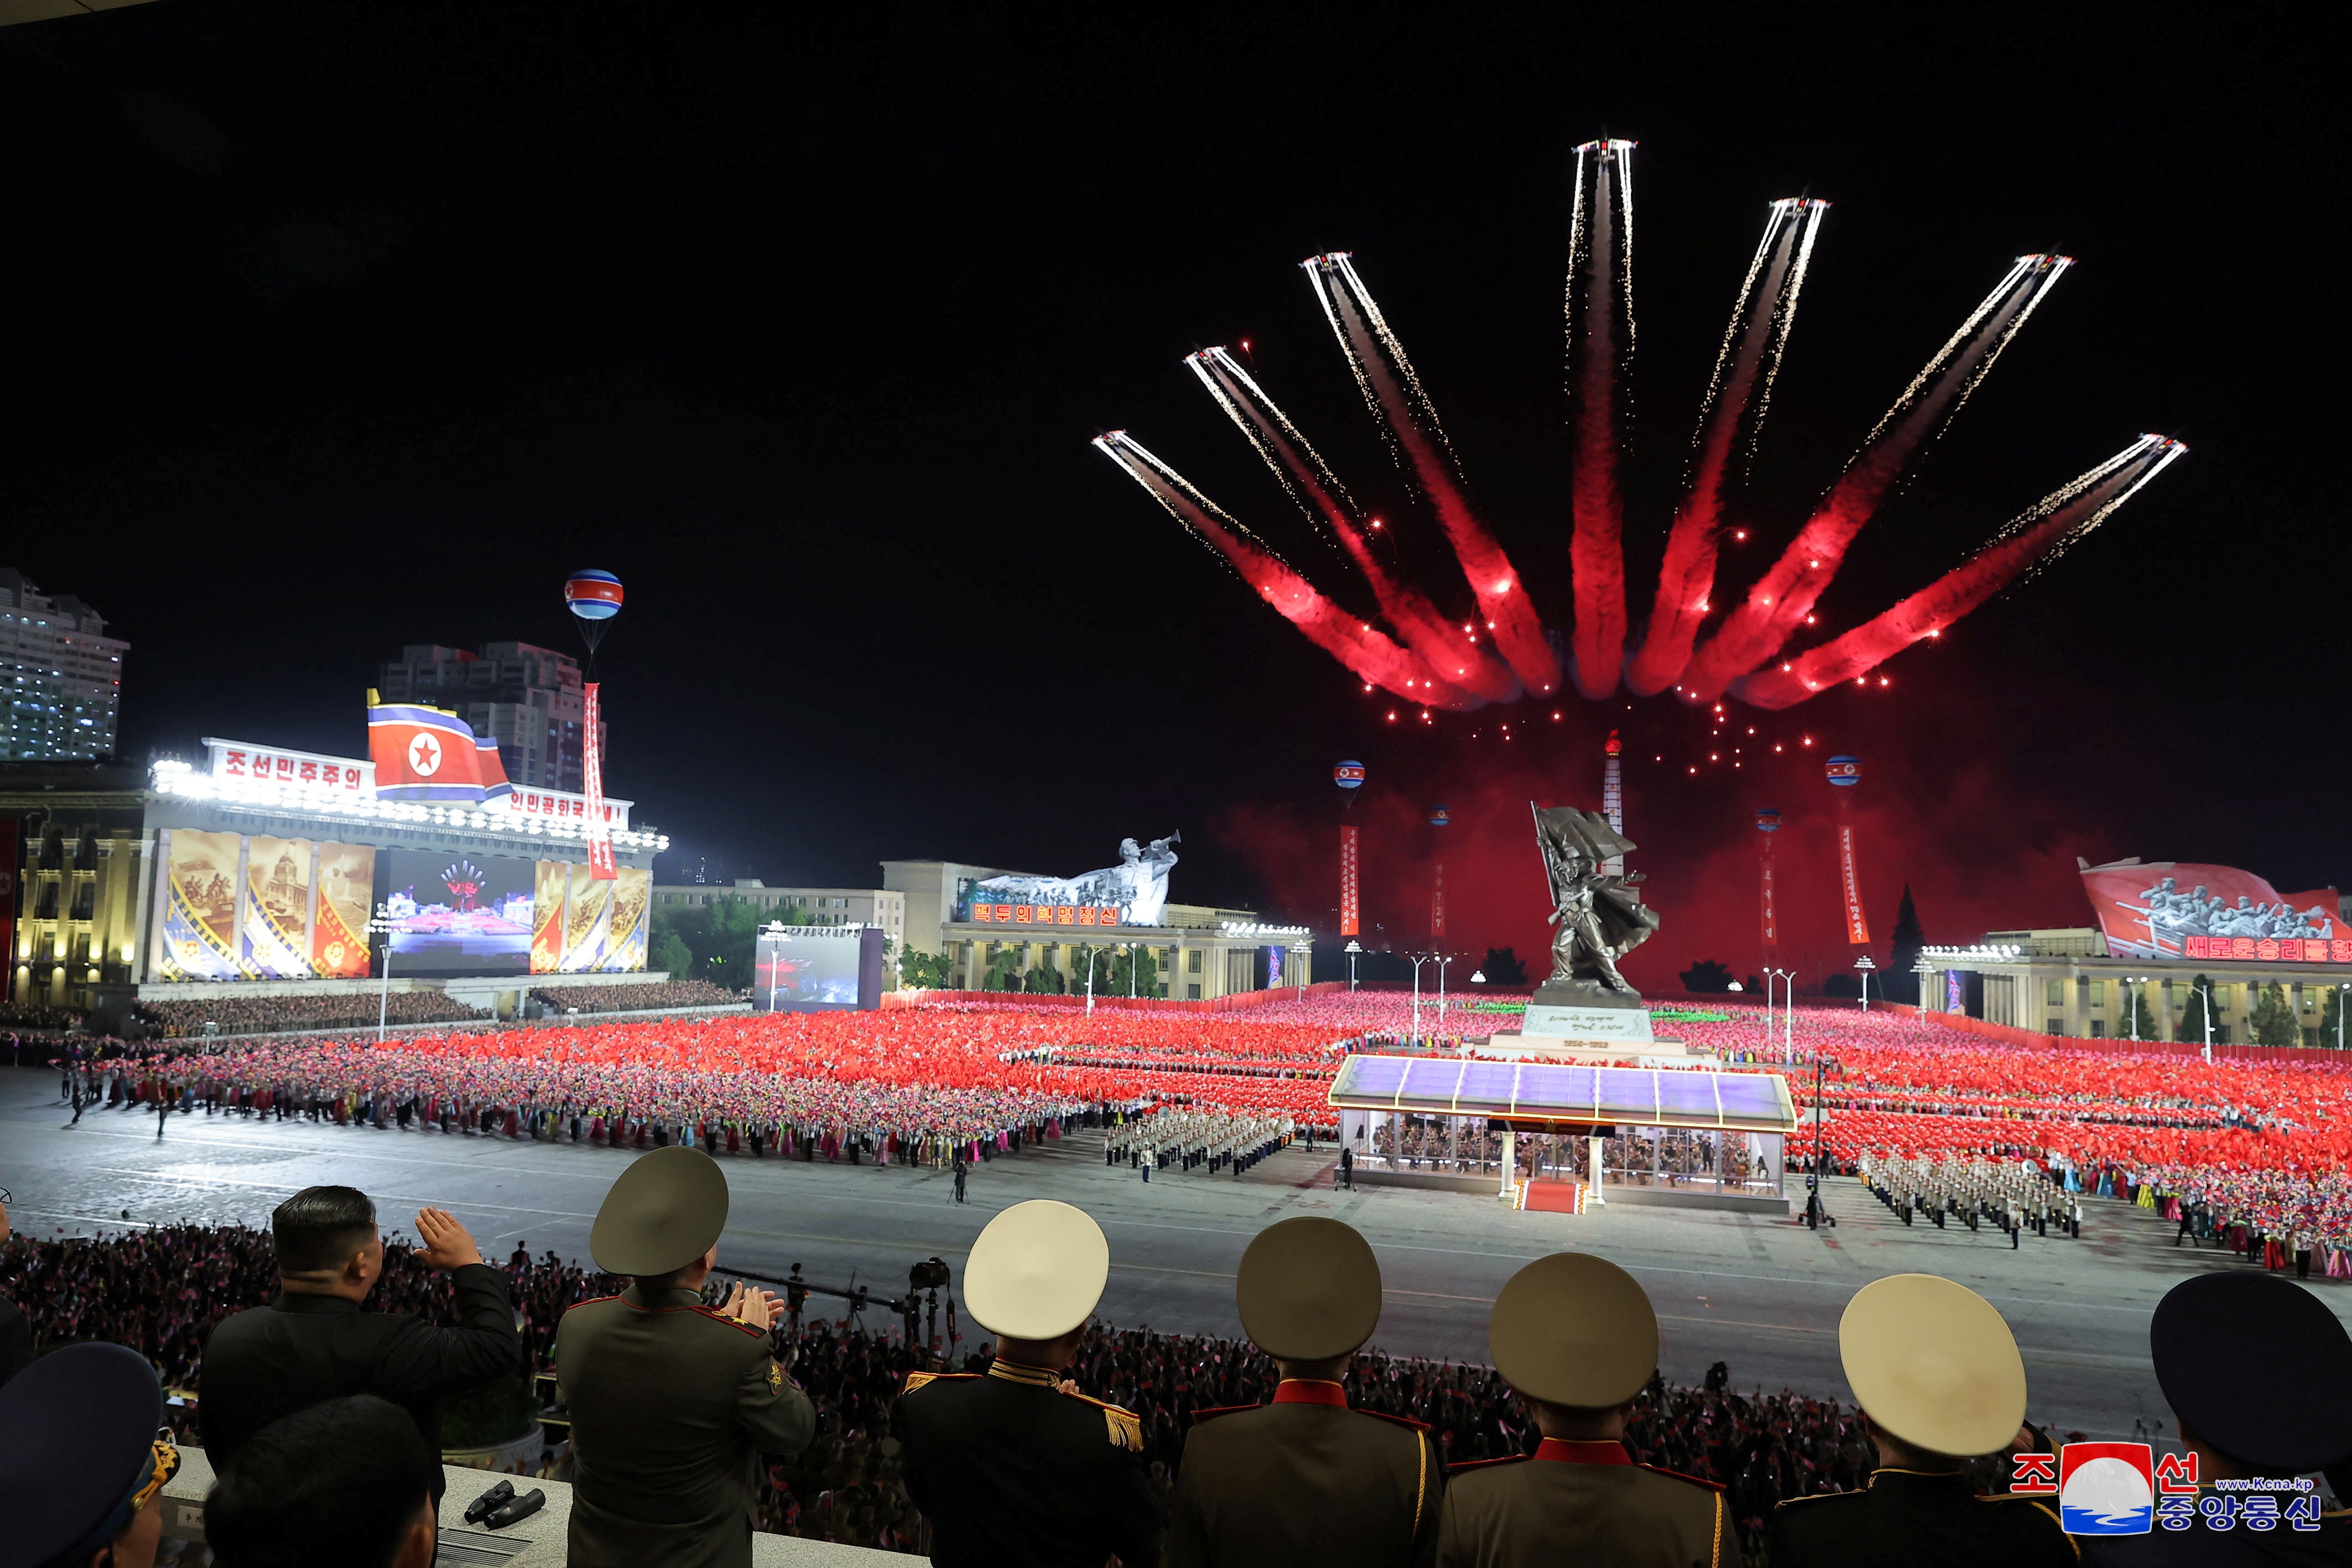
{"type": "Polygon", "coordinates": [[[195,1403],[214,1469],[280,1415],[346,1394],[390,1399],[440,1453],[440,1396],[522,1371],[506,1274],[468,1262],[452,1284],[456,1328],[341,1295],[280,1295],[221,1319],[205,1340],[195,1403]]]}

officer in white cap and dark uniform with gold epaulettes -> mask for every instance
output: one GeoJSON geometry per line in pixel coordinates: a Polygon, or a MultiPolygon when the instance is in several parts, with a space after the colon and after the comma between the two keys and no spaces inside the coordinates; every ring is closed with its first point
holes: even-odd
{"type": "Polygon", "coordinates": [[[964,1312],[997,1335],[995,1359],[985,1373],[908,1373],[891,1408],[938,1568],[1152,1561],[1143,1422],[1063,1378],[1108,1279],[1103,1227],[1070,1204],[1014,1204],[971,1244],[964,1312]]]}

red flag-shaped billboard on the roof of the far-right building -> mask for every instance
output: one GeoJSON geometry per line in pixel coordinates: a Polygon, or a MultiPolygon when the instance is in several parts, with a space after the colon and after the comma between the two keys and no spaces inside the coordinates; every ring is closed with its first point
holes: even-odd
{"type": "Polygon", "coordinates": [[[2279,893],[2230,865],[2086,865],[2082,889],[2114,959],[2352,964],[2336,889],[2279,893]]]}

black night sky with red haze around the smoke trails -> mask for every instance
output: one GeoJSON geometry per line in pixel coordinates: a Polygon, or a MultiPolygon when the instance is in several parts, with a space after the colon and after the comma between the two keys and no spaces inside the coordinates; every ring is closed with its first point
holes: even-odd
{"type": "Polygon", "coordinates": [[[2291,26],[2317,12],[1270,9],[162,0],[5,28],[0,564],[132,642],[139,762],[358,752],[400,644],[576,646],[562,578],[616,571],[607,788],[673,835],[663,875],[1073,875],[1181,827],[1176,898],[1329,929],[1329,769],[1362,757],[1376,940],[1423,940],[1446,802],[1449,943],[1531,952],[1524,804],[1597,804],[1621,726],[1665,912],[1644,985],[1762,961],[1757,806],[1790,823],[1785,952],[1844,966],[1832,750],[1865,766],[1882,961],[1903,884],[1931,940],[2079,924],[2077,853],[2352,882],[2340,38],[2291,26]],[[2140,430],[2190,456],[1889,689],[1733,705],[1738,771],[1656,698],[1388,724],[1087,440],[1129,428],[1369,609],[1181,367],[1249,339],[1468,604],[1296,266],[1350,249],[1564,628],[1559,282],[1604,127],[1642,143],[1637,618],[1771,197],[1835,209],[1719,602],[2020,252],[2082,266],[1823,630],[2140,430]]]}

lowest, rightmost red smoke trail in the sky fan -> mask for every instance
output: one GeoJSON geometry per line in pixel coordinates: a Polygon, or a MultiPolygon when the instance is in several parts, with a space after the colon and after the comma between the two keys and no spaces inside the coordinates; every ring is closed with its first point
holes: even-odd
{"type": "Polygon", "coordinates": [[[2143,435],[2091,473],[2044,496],[2039,505],[2004,527],[1964,564],[1844,637],[1785,661],[1776,670],[1743,677],[1731,689],[1733,696],[1752,708],[1790,708],[1823,686],[1867,675],[1915,642],[1938,637],[1943,628],[2020,574],[2046,564],[2105,522],[2114,508],[2124,505],[2183,451],[2187,447],[2180,442],[2143,435]]]}

